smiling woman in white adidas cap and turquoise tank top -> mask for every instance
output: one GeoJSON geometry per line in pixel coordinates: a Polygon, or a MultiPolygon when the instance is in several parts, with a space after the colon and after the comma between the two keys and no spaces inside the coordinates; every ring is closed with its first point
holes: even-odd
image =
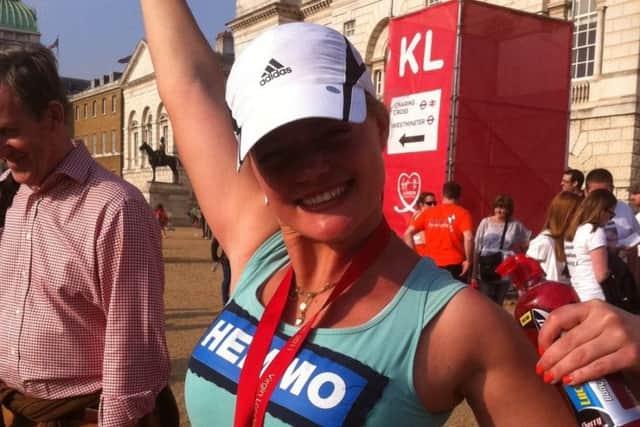
{"type": "Polygon", "coordinates": [[[574,423],[517,325],[388,228],[389,116],[342,34],[269,29],[236,58],[225,102],[187,2],[141,4],[181,161],[232,271],[189,361],[193,426],[435,426],[465,398],[481,425],[574,423]]]}

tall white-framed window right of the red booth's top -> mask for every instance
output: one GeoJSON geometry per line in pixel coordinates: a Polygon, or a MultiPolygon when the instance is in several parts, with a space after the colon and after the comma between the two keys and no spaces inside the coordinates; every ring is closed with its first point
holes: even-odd
{"type": "Polygon", "coordinates": [[[596,34],[598,12],[596,0],[573,0],[573,47],[571,49],[571,77],[579,79],[593,75],[596,62],[596,34]]]}

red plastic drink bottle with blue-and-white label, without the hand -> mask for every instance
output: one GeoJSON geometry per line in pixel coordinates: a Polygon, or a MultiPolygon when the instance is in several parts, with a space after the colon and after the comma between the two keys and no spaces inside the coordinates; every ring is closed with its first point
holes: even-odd
{"type": "MultiPolygon", "coordinates": [[[[511,276],[518,289],[514,317],[535,348],[538,347],[538,331],[549,313],[579,301],[570,285],[546,280],[540,264],[525,255],[507,258],[496,268],[496,273],[511,276]]],[[[640,403],[621,374],[562,387],[580,427],[640,427],[640,403]]]]}

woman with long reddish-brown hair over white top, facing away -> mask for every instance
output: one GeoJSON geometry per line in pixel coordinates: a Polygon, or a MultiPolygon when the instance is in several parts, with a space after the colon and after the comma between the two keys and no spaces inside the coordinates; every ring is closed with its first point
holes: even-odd
{"type": "Polygon", "coordinates": [[[542,232],[529,243],[527,256],[540,263],[547,280],[570,283],[564,235],[581,201],[582,197],[575,193],[558,193],[549,204],[542,232]]]}

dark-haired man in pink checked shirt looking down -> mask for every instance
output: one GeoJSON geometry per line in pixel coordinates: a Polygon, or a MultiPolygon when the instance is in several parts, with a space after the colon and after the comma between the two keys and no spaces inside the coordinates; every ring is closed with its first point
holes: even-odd
{"type": "Polygon", "coordinates": [[[48,49],[0,49],[0,158],[21,184],[0,229],[0,425],[177,426],[158,223],[71,119],[48,49]]]}

